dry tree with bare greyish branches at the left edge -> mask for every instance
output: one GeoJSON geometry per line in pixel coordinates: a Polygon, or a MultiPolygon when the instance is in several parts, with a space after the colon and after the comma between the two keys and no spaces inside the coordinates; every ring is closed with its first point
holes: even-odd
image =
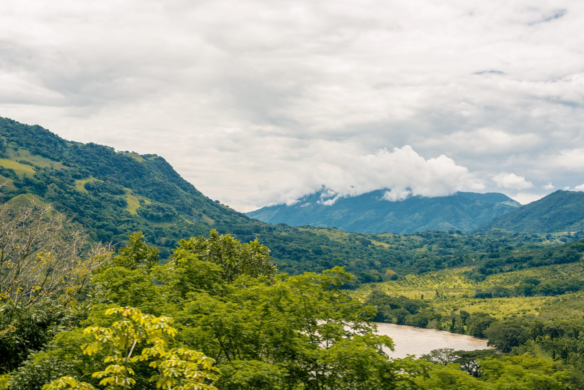
{"type": "Polygon", "coordinates": [[[40,305],[68,305],[111,254],[50,206],[0,205],[0,337],[40,305]]]}

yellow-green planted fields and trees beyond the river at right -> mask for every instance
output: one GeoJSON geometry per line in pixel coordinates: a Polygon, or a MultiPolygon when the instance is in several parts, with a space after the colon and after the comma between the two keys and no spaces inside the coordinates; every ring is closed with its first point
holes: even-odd
{"type": "MultiPolygon", "coordinates": [[[[564,246],[564,253],[567,249],[564,246]]],[[[569,249],[581,253],[582,243],[573,243],[569,249]]],[[[548,251],[540,250],[550,255],[548,251]]],[[[575,263],[500,272],[481,281],[472,278],[470,268],[408,275],[366,285],[353,295],[377,307],[377,321],[484,337],[511,357],[527,354],[539,359],[538,364],[550,365],[550,372],[571,371],[573,388],[582,388],[581,260],[580,256],[575,263]]],[[[440,351],[434,355],[426,358],[444,357],[440,351]]],[[[454,359],[450,363],[460,362],[454,359]]]]}

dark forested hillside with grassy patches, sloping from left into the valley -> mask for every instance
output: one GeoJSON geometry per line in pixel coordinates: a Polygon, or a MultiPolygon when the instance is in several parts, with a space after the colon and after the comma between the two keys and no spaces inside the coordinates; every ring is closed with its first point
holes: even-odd
{"type": "Polygon", "coordinates": [[[161,258],[168,258],[180,239],[215,229],[244,242],[257,237],[270,248],[280,270],[290,274],[343,265],[357,276],[350,282],[354,285],[381,281],[387,270],[425,272],[470,264],[472,258],[500,251],[561,243],[561,237],[500,230],[478,235],[454,230],[364,234],[269,225],[207,198],[154,154],[67,141],[40,126],[5,118],[0,119],[0,136],[4,201],[15,206],[50,203],[86,227],[93,241],[123,246],[131,233],[141,230],[161,258]]]}

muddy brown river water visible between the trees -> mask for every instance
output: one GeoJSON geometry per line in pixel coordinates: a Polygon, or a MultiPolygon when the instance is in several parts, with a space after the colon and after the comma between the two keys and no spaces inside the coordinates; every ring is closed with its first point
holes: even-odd
{"type": "Polygon", "coordinates": [[[394,340],[395,351],[384,348],[390,357],[405,357],[406,355],[420,355],[429,353],[438,348],[454,348],[457,350],[473,351],[489,348],[486,340],[467,334],[445,332],[444,330],[423,329],[420,327],[377,323],[377,333],[390,336],[394,340]]]}

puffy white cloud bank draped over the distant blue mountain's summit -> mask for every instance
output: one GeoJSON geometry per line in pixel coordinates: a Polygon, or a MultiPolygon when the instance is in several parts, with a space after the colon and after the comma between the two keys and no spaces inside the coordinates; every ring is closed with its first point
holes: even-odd
{"type": "MultiPolygon", "coordinates": [[[[299,178],[302,180],[302,178],[299,178]]],[[[347,154],[322,161],[305,175],[300,187],[290,182],[287,189],[274,191],[272,204],[293,205],[302,196],[321,192],[320,202],[332,205],[341,197],[350,197],[388,189],[383,198],[400,201],[408,196],[447,196],[463,189],[484,189],[484,183],[444,155],[425,159],[411,146],[381,149],[366,155],[347,154]]]]}

